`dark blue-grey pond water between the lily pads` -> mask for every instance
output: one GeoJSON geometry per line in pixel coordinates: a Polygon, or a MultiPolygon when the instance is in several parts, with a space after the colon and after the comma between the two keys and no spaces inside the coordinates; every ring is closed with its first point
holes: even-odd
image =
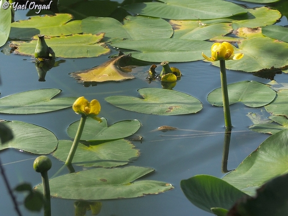
{"type": "MultiPolygon", "coordinates": [[[[253,4],[254,6],[254,4],[253,4]]],[[[17,11],[15,19],[25,18],[25,11],[17,11]]],[[[287,22],[286,17],[282,19],[287,22]]],[[[84,87],[77,83],[69,73],[84,70],[105,62],[108,56],[116,54],[113,51],[109,55],[96,58],[65,59],[58,67],[49,70],[45,82],[38,81],[38,74],[33,59],[30,57],[0,53],[0,92],[1,96],[40,88],[59,88],[61,96],[85,96],[88,100],[97,99],[101,104],[100,117],[107,119],[108,125],[126,119],[138,119],[142,127],[137,135],[143,136],[143,141],[133,141],[135,148],[141,152],[140,157],[128,166],[152,167],[155,172],[141,179],[158,180],[171,183],[175,189],[158,195],[147,195],[134,199],[106,200],[102,202],[99,216],[209,216],[211,214],[202,211],[192,205],[184,196],[180,188],[180,181],[198,174],[208,174],[223,177],[221,172],[224,118],[223,108],[214,107],[207,102],[207,95],[215,88],[220,87],[219,68],[204,61],[170,63],[170,66],[181,70],[183,76],[174,90],[185,92],[203,103],[203,109],[197,114],[178,116],[147,115],[117,108],[107,103],[104,98],[111,95],[137,96],[137,90],[145,87],[161,88],[160,82],[148,83],[145,77],[151,64],[139,66],[133,69],[135,79],[123,82],[99,83],[96,86],[84,87]],[[176,131],[153,131],[156,128],[169,125],[177,127],[176,131]],[[205,131],[211,134],[204,134],[205,131]]],[[[58,60],[58,59],[57,59],[58,60]]],[[[165,60],[165,59],[164,59],[165,60]]],[[[157,64],[160,68],[160,64],[157,64]]],[[[267,83],[270,80],[259,78],[252,73],[227,71],[228,83],[243,80],[255,80],[267,83]]],[[[281,82],[288,82],[286,74],[275,77],[281,82]]],[[[249,112],[259,113],[264,117],[269,116],[264,108],[249,108],[244,104],[231,105],[232,124],[234,125],[230,151],[228,170],[236,168],[252,151],[254,151],[268,135],[252,132],[248,129],[252,125],[246,116],[249,112]]],[[[79,116],[74,114],[71,108],[37,115],[5,115],[0,114],[0,119],[18,120],[39,125],[52,131],[60,139],[69,139],[66,129],[79,116]]],[[[37,155],[19,152],[9,149],[0,153],[1,163],[6,171],[7,178],[12,187],[22,182],[32,185],[40,183],[41,178],[33,170],[33,161],[37,155]]],[[[52,177],[63,165],[57,159],[52,160],[52,168],[48,172],[52,177]]],[[[77,170],[82,168],[75,167],[77,170]]],[[[68,173],[63,170],[61,174],[68,173]]],[[[0,178],[0,211],[1,216],[14,214],[12,202],[8,192],[0,178]]],[[[17,194],[17,201],[23,197],[17,194]]],[[[74,215],[74,201],[52,199],[53,216],[74,215]]],[[[31,213],[20,205],[24,216],[42,215],[31,213]]],[[[87,216],[91,212],[87,212],[87,216]]]]}

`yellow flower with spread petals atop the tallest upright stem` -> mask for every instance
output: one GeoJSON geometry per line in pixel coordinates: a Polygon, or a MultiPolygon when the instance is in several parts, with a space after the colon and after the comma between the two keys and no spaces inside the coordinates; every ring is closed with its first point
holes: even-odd
{"type": "Polygon", "coordinates": [[[238,60],[241,59],[244,54],[237,53],[234,54],[233,46],[224,41],[223,43],[214,43],[211,47],[211,57],[208,57],[202,52],[202,56],[209,61],[219,61],[219,60],[238,60]]]}

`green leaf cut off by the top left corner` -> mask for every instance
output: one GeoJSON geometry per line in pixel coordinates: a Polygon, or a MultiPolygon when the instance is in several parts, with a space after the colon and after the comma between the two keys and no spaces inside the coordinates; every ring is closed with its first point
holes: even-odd
{"type": "Polygon", "coordinates": [[[7,1],[0,0],[0,46],[4,45],[8,39],[11,25],[11,9],[10,7],[4,9],[3,4],[7,1]]]}

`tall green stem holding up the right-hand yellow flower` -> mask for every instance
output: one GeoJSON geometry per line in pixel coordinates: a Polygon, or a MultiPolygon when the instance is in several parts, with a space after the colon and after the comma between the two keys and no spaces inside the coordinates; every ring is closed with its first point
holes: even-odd
{"type": "Polygon", "coordinates": [[[221,88],[222,88],[222,100],[223,100],[223,108],[224,108],[225,126],[226,126],[226,129],[231,129],[232,123],[231,123],[231,115],[230,115],[230,107],[229,107],[225,60],[220,60],[220,76],[221,76],[221,88]]]}

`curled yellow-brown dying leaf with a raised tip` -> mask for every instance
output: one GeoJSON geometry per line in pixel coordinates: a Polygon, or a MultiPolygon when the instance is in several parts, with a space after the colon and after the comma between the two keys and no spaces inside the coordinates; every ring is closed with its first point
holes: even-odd
{"type": "Polygon", "coordinates": [[[124,67],[125,61],[129,58],[130,55],[120,55],[109,59],[97,67],[71,73],[71,76],[78,79],[79,82],[105,82],[133,79],[135,77],[125,72],[127,69],[124,67]]]}

